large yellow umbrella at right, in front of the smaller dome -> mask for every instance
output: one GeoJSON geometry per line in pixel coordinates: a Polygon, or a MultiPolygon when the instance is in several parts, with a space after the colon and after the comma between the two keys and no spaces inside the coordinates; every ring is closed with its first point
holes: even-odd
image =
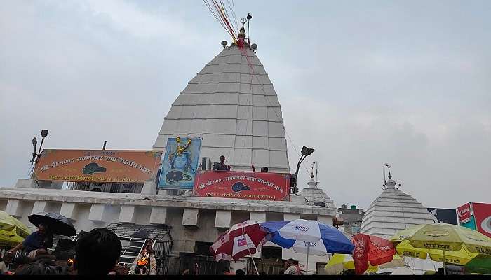
{"type": "Polygon", "coordinates": [[[445,263],[449,262],[450,258],[454,262],[458,261],[462,264],[466,258],[475,258],[476,255],[474,254],[491,257],[491,239],[489,237],[476,230],[447,223],[414,225],[401,230],[389,240],[396,244],[396,250],[399,248],[398,253],[401,255],[426,258],[426,254],[429,253],[430,258],[433,256],[433,260],[443,262],[444,270],[445,263]],[[403,243],[403,241],[406,242],[403,243]],[[428,251],[412,251],[409,245],[415,249],[428,251]],[[436,251],[441,252],[440,258],[436,251]],[[452,252],[450,258],[448,256],[449,251],[452,252]]]}

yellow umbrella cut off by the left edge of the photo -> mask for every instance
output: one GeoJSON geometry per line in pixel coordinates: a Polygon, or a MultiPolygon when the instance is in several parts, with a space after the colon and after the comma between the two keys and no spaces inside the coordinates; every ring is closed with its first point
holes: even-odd
{"type": "Polygon", "coordinates": [[[18,219],[0,211],[0,246],[13,247],[24,241],[31,231],[18,219]]]}

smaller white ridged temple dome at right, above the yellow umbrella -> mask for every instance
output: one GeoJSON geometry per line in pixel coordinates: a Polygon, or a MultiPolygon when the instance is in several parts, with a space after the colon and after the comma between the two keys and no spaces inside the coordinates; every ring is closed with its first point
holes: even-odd
{"type": "Polygon", "coordinates": [[[363,216],[361,233],[389,239],[399,230],[411,225],[435,223],[435,218],[421,203],[402,190],[389,176],[382,194],[377,197],[363,216]]]}

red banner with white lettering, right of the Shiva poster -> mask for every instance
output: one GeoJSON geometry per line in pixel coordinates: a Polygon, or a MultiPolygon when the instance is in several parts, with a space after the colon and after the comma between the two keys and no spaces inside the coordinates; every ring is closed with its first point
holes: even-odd
{"type": "Polygon", "coordinates": [[[194,195],[245,200],[288,200],[290,174],[201,171],[196,175],[194,195]]]}

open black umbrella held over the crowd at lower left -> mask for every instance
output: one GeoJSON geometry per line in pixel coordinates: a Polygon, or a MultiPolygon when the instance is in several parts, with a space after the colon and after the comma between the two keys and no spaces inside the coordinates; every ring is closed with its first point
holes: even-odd
{"type": "Polygon", "coordinates": [[[29,215],[28,218],[29,222],[36,225],[36,227],[38,227],[40,223],[45,223],[48,225],[51,232],[56,235],[73,236],[76,232],[72,222],[70,222],[67,217],[58,213],[39,212],[29,215]]]}

